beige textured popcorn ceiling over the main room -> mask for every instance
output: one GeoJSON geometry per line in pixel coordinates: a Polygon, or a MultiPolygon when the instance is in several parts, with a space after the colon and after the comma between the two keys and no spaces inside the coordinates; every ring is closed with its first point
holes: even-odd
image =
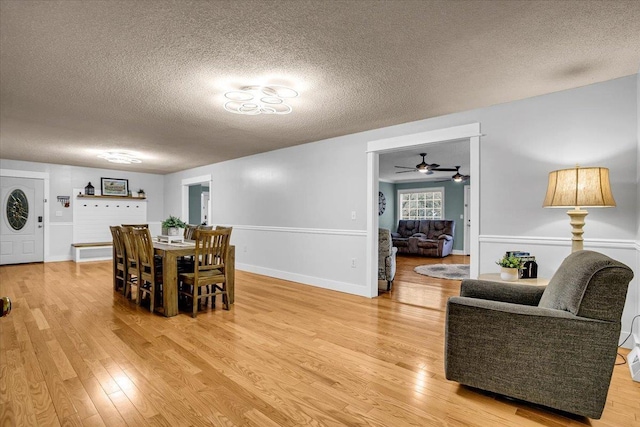
{"type": "MultiPolygon", "coordinates": [[[[0,157],[168,173],[636,73],[639,1],[0,2],[0,157]],[[284,84],[285,116],[223,93],[284,84]]],[[[418,162],[415,162],[418,163],[418,162]]]]}

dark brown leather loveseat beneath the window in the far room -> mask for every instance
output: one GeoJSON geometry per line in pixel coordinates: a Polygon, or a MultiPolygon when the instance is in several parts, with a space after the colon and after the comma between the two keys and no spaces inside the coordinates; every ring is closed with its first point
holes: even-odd
{"type": "Polygon", "coordinates": [[[398,253],[443,258],[453,250],[455,228],[456,222],[448,219],[401,219],[391,239],[398,253]]]}

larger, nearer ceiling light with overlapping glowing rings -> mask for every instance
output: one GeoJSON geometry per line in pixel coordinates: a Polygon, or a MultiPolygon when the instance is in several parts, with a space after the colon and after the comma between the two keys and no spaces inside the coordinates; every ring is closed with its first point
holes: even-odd
{"type": "Polygon", "coordinates": [[[293,109],[285,100],[295,98],[298,92],[285,86],[245,86],[224,94],[228,99],[224,109],[234,114],[289,114],[293,109]]]}

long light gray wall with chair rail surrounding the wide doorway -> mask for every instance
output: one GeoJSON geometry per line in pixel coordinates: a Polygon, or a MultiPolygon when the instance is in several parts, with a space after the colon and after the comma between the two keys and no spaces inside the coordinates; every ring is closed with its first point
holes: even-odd
{"type": "MultiPolygon", "coordinates": [[[[165,214],[180,212],[182,179],[211,174],[212,223],[238,225],[232,241],[242,268],[364,295],[367,142],[474,122],[483,133],[474,177],[481,272],[495,271],[504,249],[495,242],[513,248],[509,239],[535,240],[542,274],[555,271],[569,253],[570,225],[566,212],[543,209],[542,200],[548,173],[576,163],[608,167],[618,202],[589,211],[587,244],[609,242],[603,252],[631,252],[626,262],[636,263],[626,243],[638,234],[635,75],[167,175],[165,214]]],[[[632,288],[623,329],[637,312],[637,281],[632,288]]]]}

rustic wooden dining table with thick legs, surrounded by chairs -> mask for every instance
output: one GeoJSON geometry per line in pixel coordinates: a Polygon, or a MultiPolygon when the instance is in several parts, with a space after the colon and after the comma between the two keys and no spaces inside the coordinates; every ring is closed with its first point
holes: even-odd
{"type": "MultiPolygon", "coordinates": [[[[158,307],[158,311],[166,317],[176,316],[178,314],[178,258],[194,256],[195,242],[185,240],[166,243],[154,240],[153,250],[156,255],[162,257],[162,307],[158,307]]],[[[229,304],[233,304],[235,299],[235,260],[236,248],[234,245],[229,245],[225,260],[229,304]]]]}

